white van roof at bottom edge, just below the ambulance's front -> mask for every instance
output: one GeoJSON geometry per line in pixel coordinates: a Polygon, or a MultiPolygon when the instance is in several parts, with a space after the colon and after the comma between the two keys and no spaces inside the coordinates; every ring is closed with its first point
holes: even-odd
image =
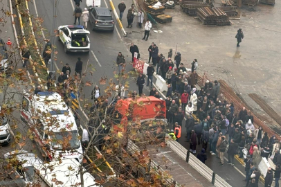
{"type": "MultiPolygon", "coordinates": [[[[50,163],[35,164],[37,175],[43,179],[42,187],[71,187],[81,186],[80,166],[75,159],[62,159],[50,163]]],[[[84,187],[100,187],[95,178],[83,168],[84,187]]]]}

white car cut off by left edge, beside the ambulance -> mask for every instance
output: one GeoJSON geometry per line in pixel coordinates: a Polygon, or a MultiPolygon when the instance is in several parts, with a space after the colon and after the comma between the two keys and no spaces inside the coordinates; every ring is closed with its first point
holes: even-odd
{"type": "MultiPolygon", "coordinates": [[[[1,107],[0,107],[1,111],[1,107]]],[[[10,134],[10,125],[8,118],[6,118],[5,114],[0,116],[0,143],[1,144],[9,144],[11,141],[10,134]]]]}

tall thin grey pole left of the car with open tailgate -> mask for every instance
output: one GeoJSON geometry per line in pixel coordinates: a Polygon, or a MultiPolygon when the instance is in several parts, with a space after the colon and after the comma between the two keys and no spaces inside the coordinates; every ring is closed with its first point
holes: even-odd
{"type": "MultiPolygon", "coordinates": [[[[53,0],[53,39],[52,39],[52,45],[55,46],[55,35],[57,34],[55,32],[56,28],[57,28],[57,8],[59,5],[59,1],[60,0],[53,0]]],[[[54,52],[55,52],[55,48],[52,48],[52,54],[51,54],[51,72],[53,72],[53,76],[55,75],[55,69],[54,69],[54,63],[55,63],[55,57],[54,57],[54,52]]]]}

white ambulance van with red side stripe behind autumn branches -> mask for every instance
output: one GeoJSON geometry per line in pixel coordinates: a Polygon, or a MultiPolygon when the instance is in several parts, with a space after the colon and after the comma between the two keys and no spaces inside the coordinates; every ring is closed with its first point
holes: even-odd
{"type": "Polygon", "coordinates": [[[82,162],[82,146],[71,109],[55,92],[25,93],[21,120],[30,125],[34,141],[47,161],[70,158],[82,162]]]}

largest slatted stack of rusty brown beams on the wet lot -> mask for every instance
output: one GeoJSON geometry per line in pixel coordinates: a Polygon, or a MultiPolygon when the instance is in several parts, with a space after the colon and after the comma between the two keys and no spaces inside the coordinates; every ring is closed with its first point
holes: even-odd
{"type": "Polygon", "coordinates": [[[220,8],[198,8],[197,16],[202,21],[204,25],[215,25],[215,26],[229,26],[230,21],[224,10],[220,8]]]}

